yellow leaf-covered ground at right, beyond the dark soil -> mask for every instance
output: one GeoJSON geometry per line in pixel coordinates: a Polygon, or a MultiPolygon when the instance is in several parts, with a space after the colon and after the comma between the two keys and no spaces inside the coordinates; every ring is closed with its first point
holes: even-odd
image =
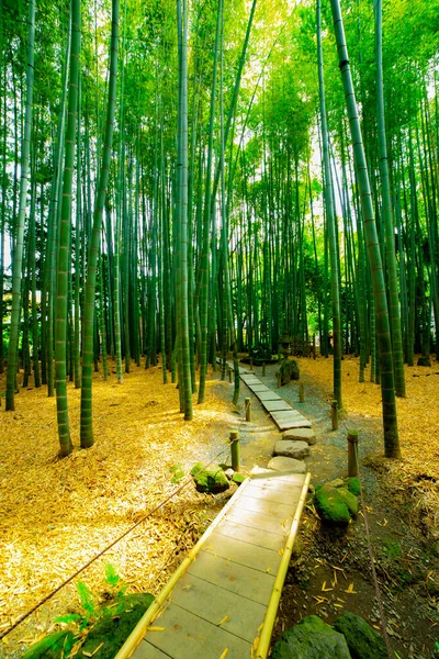
{"type": "MultiPolygon", "coordinates": [[[[416,362],[416,361],[415,361],[416,362]]],[[[301,359],[302,372],[331,398],[333,359],[301,359]]],[[[359,382],[358,357],[342,361],[342,399],[347,416],[361,415],[381,424],[381,387],[359,382]]],[[[375,462],[390,473],[395,487],[414,498],[427,533],[439,540],[439,364],[431,355],[431,367],[405,366],[406,398],[396,399],[402,460],[383,460],[383,446],[375,462]]]]}

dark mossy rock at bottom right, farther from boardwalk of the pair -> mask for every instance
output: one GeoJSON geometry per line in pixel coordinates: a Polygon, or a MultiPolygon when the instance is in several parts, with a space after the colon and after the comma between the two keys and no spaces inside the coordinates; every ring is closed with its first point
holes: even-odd
{"type": "Polygon", "coordinates": [[[352,659],[387,659],[384,640],[359,615],[345,611],[334,628],[345,636],[352,659]]]}

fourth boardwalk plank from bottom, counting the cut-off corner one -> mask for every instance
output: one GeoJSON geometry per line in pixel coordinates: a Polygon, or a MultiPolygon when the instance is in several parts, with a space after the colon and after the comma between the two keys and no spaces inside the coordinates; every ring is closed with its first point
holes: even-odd
{"type": "Polygon", "coordinates": [[[227,561],[225,558],[215,557],[207,551],[199,554],[188,568],[188,573],[243,595],[243,597],[259,602],[259,604],[268,604],[274,585],[273,574],[227,561]]]}

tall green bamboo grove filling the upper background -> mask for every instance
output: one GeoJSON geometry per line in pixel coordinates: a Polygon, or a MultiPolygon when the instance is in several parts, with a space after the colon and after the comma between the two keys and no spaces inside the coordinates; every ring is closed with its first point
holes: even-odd
{"type": "Polygon", "coordinates": [[[69,380],[88,447],[93,369],[161,355],[190,420],[217,353],[333,333],[398,456],[404,362],[439,359],[438,31],[437,0],[0,0],[5,409],[47,387],[64,456],[69,380]]]}

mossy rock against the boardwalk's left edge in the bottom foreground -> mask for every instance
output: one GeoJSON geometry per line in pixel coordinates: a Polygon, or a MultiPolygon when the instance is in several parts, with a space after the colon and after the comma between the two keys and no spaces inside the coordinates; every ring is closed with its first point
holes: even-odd
{"type": "Polygon", "coordinates": [[[93,659],[114,659],[153,601],[154,595],[138,593],[126,595],[116,606],[108,608],[102,618],[89,632],[77,657],[86,659],[86,657],[92,656],[93,659]]]}

